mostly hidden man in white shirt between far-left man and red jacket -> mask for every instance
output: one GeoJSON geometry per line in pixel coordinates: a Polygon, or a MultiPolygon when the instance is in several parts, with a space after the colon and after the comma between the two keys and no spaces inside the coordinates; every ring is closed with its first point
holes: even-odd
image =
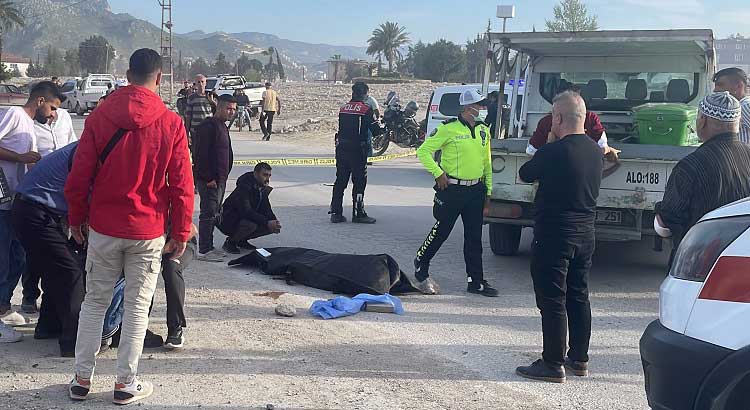
{"type": "MultiPolygon", "coordinates": [[[[34,135],[36,136],[37,152],[42,158],[58,149],[78,141],[73,130],[73,120],[66,110],[52,111],[52,118],[46,123],[34,121],[34,135]]],[[[36,313],[36,301],[42,292],[39,290],[39,279],[42,272],[26,270],[23,273],[23,300],[21,310],[24,313],[36,313]]]]}

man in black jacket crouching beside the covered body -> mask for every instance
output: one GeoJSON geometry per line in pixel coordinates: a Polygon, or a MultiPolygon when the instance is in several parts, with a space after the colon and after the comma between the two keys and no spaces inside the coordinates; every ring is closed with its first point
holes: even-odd
{"type": "Polygon", "coordinates": [[[273,190],[268,186],[270,181],[271,166],[265,162],[259,162],[253,172],[237,180],[237,188],[224,202],[217,223],[219,230],[227,236],[222,247],[227,253],[238,254],[240,248],[255,249],[248,239],[281,232],[281,223],[268,198],[273,190]]]}

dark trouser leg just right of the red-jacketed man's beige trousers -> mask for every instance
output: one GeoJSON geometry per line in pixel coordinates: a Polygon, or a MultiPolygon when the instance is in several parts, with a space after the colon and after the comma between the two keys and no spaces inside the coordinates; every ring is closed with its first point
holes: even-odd
{"type": "MultiPolygon", "coordinates": [[[[187,326],[185,321],[185,277],[183,271],[195,259],[195,247],[188,244],[177,263],[164,255],[161,260],[161,276],[167,296],[167,329],[172,332],[187,326]]],[[[153,306],[153,299],[151,305],[153,306]]]]}

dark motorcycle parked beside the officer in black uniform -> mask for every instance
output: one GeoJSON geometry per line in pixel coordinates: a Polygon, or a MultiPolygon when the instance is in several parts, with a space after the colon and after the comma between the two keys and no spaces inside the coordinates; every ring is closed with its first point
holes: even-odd
{"type": "Polygon", "coordinates": [[[386,97],[385,107],[381,123],[383,132],[372,139],[373,155],[383,155],[391,142],[401,148],[416,148],[422,145],[424,131],[420,131],[420,128],[426,128],[426,124],[422,127],[416,120],[419,104],[410,101],[402,107],[398,94],[391,91],[386,97]]]}

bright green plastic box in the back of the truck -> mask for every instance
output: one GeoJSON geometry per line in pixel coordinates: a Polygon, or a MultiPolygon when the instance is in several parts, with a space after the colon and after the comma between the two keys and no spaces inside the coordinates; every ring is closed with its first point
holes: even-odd
{"type": "Polygon", "coordinates": [[[698,109],[687,104],[651,103],[633,108],[640,144],[700,145],[695,133],[698,109]]]}

